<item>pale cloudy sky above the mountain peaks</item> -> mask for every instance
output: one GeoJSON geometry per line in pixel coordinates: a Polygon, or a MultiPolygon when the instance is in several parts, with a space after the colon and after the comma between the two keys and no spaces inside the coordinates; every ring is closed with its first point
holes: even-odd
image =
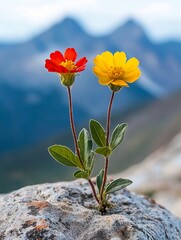
{"type": "Polygon", "coordinates": [[[0,0],[0,42],[26,41],[67,16],[93,35],[131,18],[156,41],[181,40],[181,0],[0,0]]]}

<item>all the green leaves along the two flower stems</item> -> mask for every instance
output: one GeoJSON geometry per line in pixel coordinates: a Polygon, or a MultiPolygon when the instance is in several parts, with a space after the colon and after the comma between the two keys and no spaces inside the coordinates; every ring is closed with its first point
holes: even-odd
{"type": "MultiPolygon", "coordinates": [[[[101,154],[105,158],[109,157],[113,151],[121,144],[124,139],[127,124],[118,124],[112,132],[110,143],[106,143],[106,131],[102,125],[96,120],[90,120],[90,132],[83,128],[78,135],[78,151],[73,153],[71,149],[62,145],[53,145],[49,147],[50,155],[60,164],[76,167],[74,173],[75,178],[84,178],[89,180],[94,168],[95,154],[101,154]],[[93,141],[98,146],[93,150],[93,141]]],[[[105,189],[101,190],[104,178],[104,170],[102,169],[96,177],[98,193],[102,191],[103,196],[120,190],[132,182],[128,179],[116,179],[105,185],[105,189]]]]}

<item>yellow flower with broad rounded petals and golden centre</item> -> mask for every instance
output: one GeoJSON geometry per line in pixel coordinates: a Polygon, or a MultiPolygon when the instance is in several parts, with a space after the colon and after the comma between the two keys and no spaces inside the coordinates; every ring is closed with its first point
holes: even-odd
{"type": "Polygon", "coordinates": [[[108,85],[113,91],[127,87],[128,83],[135,82],[141,75],[138,68],[139,61],[131,58],[126,61],[124,52],[103,52],[94,58],[93,72],[101,85],[108,85]]]}

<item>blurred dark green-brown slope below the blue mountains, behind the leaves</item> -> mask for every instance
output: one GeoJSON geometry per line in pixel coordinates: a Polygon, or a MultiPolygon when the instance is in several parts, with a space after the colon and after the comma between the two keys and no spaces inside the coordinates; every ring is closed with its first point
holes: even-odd
{"type": "MultiPolygon", "coordinates": [[[[109,173],[118,173],[141,162],[181,131],[181,105],[178,102],[181,102],[181,92],[137,106],[124,114],[118,111],[112,116],[112,128],[127,122],[128,130],[121,147],[110,159],[109,173]]],[[[100,122],[105,126],[104,117],[100,122]]],[[[86,124],[84,127],[88,128],[86,124]]],[[[64,133],[57,132],[54,137],[39,144],[1,156],[0,192],[29,184],[72,179],[75,169],[59,165],[48,154],[47,148],[53,144],[66,145],[73,150],[70,129],[64,133]]],[[[95,173],[103,167],[103,163],[102,158],[96,159],[95,173]]]]}

